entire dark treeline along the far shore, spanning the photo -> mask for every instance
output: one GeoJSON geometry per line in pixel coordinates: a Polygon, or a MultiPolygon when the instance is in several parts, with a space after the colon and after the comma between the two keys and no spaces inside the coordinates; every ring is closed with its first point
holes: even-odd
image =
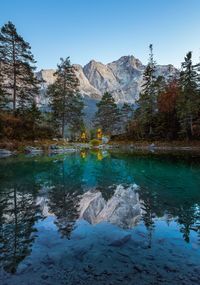
{"type": "Polygon", "coordinates": [[[157,76],[153,46],[134,106],[119,106],[109,92],[97,103],[93,130],[84,124],[84,102],[79,80],[69,57],[60,60],[55,82],[46,92],[48,111],[38,103],[41,81],[35,75],[31,47],[15,26],[0,29],[0,138],[40,139],[92,137],[97,128],[105,135],[130,140],[181,140],[200,138],[200,64],[188,52],[181,71],[157,76]]]}

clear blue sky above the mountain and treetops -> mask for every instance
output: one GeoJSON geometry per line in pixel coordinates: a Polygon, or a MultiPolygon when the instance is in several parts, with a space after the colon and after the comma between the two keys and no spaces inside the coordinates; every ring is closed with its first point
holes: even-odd
{"type": "Polygon", "coordinates": [[[179,67],[189,50],[200,57],[200,0],[1,0],[0,25],[8,20],[39,69],[67,56],[84,65],[132,54],[146,63],[149,43],[158,64],[179,67]]]}

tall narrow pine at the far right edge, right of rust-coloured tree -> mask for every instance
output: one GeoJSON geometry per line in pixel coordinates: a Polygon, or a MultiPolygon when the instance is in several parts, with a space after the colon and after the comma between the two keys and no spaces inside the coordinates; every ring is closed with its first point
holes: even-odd
{"type": "Polygon", "coordinates": [[[188,52],[180,73],[180,96],[177,113],[181,134],[188,139],[193,136],[193,123],[200,110],[199,65],[192,64],[192,52],[188,52]]]}

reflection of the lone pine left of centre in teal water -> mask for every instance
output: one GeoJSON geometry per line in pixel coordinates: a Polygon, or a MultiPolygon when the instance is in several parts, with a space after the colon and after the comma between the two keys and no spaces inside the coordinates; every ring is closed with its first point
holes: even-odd
{"type": "MultiPolygon", "coordinates": [[[[56,180],[59,180],[48,193],[48,207],[56,216],[55,224],[61,235],[70,238],[75,222],[79,216],[79,195],[83,191],[84,165],[76,158],[59,163],[54,172],[56,180]]],[[[54,177],[53,181],[55,181],[54,177]]]]}

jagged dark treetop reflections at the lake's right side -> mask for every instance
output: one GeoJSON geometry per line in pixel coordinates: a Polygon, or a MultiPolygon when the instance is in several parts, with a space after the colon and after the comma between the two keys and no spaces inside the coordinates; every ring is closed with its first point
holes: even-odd
{"type": "Polygon", "coordinates": [[[180,232],[185,242],[190,242],[191,231],[196,231],[200,235],[200,209],[192,201],[180,200],[174,197],[173,200],[165,200],[162,191],[150,191],[148,188],[140,188],[140,199],[143,204],[143,221],[148,231],[149,247],[153,230],[155,228],[155,218],[164,218],[167,223],[171,219],[175,220],[180,226],[180,232]]]}

